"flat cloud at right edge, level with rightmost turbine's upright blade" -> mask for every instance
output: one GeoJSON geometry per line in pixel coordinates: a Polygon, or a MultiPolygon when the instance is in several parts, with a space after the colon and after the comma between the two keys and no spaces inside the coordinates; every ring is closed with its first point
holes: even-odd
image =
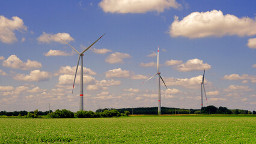
{"type": "Polygon", "coordinates": [[[256,83],[256,76],[249,76],[248,74],[242,74],[239,76],[239,74],[230,74],[230,75],[225,75],[222,77],[222,79],[225,80],[243,80],[242,83],[247,83],[248,80],[251,80],[252,83],[256,83]]]}

